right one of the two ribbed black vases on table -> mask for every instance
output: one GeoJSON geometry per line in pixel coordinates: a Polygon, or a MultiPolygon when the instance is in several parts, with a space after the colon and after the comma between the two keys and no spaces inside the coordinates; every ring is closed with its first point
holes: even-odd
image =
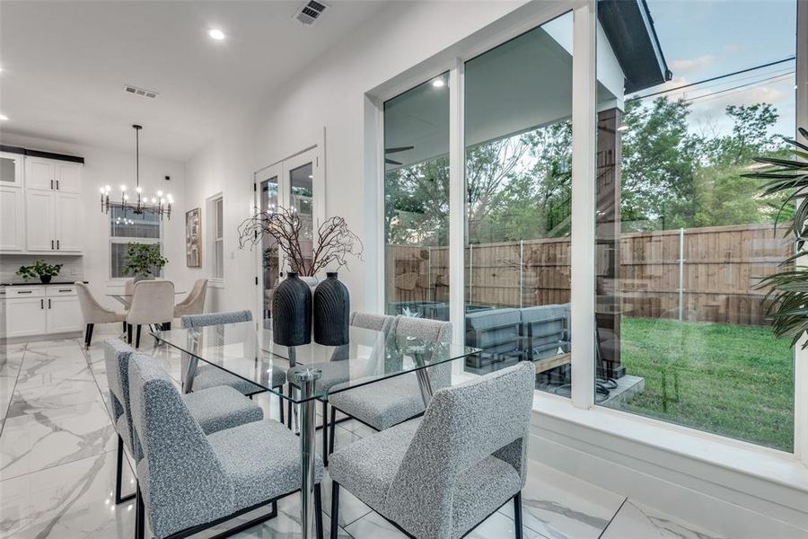
{"type": "Polygon", "coordinates": [[[314,342],[326,346],[342,346],[348,342],[351,298],[337,272],[326,273],[326,279],[314,289],[314,342]]]}

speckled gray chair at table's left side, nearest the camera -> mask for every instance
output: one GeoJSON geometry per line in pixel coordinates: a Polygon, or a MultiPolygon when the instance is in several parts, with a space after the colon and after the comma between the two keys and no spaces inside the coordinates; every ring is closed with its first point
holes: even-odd
{"type": "MultiPolygon", "coordinates": [[[[186,537],[269,504],[270,516],[277,514],[277,499],[300,490],[300,441],[283,424],[263,420],[206,435],[165,371],[142,354],[129,359],[129,390],[135,445],[143,455],[137,464],[137,539],[145,536],[146,515],[158,539],[186,537]]],[[[319,537],[322,473],[315,455],[319,537]]]]}

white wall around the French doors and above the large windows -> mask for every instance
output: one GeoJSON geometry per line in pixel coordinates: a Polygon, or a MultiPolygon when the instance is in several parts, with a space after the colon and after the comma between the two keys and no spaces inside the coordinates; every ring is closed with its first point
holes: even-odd
{"type": "MultiPolygon", "coordinates": [[[[344,216],[367,245],[378,222],[366,222],[374,196],[364,186],[364,94],[423,62],[474,31],[513,11],[516,2],[396,3],[363,29],[268,96],[258,110],[223,132],[186,164],[189,208],[224,192],[225,264],[223,289],[214,290],[219,309],[254,310],[257,305],[255,253],[240,252],[236,226],[250,215],[252,174],[261,167],[317,144],[326,129],[326,214],[344,216]]],[[[312,31],[316,31],[312,29],[312,31]]],[[[369,251],[368,251],[369,252],[369,251]]],[[[203,256],[206,256],[203,252],[203,256]]],[[[351,261],[340,272],[353,309],[373,310],[375,271],[351,261]]],[[[194,275],[204,271],[195,271],[194,275]]],[[[210,308],[210,305],[209,307],[210,308]]]]}

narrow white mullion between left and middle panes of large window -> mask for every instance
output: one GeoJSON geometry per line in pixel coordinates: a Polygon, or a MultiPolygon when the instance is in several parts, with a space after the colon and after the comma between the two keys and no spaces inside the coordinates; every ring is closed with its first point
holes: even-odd
{"type": "MultiPolygon", "coordinates": [[[[463,245],[466,218],[466,152],[463,126],[463,68],[455,59],[449,71],[449,320],[455,344],[465,344],[465,260],[463,245]]],[[[463,364],[455,361],[452,373],[463,372],[463,364]]]]}

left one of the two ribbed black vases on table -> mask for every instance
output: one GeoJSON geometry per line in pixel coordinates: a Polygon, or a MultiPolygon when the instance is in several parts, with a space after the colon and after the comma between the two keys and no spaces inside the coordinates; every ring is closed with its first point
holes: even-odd
{"type": "Polygon", "coordinates": [[[275,289],[272,340],[283,346],[312,342],[312,291],[296,273],[287,273],[275,289]]]}

